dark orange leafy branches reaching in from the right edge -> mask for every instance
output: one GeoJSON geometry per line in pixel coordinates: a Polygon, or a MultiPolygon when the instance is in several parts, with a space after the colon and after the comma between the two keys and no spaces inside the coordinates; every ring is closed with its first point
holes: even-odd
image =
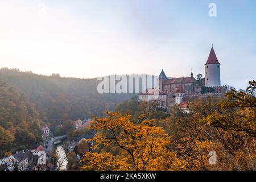
{"type": "Polygon", "coordinates": [[[245,91],[231,89],[227,99],[221,101],[222,112],[214,112],[205,122],[210,126],[225,130],[244,131],[256,137],[256,81],[249,81],[245,91]]]}

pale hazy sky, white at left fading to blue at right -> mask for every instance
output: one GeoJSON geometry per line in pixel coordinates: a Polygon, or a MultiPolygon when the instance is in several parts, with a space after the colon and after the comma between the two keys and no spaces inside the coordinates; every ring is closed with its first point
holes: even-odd
{"type": "Polygon", "coordinates": [[[211,44],[221,84],[256,79],[256,1],[0,0],[0,67],[90,78],[204,75],[211,44]],[[208,15],[216,3],[217,17],[208,15]],[[44,8],[45,7],[45,8],[44,8]]]}

